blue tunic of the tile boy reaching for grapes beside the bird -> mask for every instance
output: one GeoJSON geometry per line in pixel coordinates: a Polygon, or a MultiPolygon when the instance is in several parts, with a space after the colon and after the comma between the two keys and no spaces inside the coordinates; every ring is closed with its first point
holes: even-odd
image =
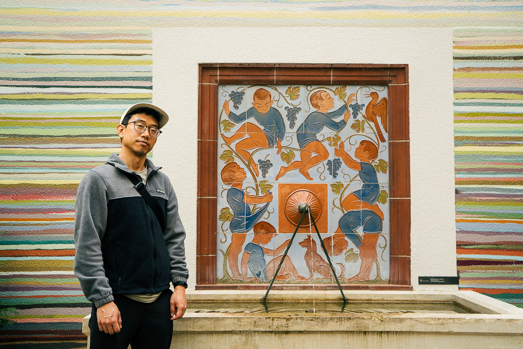
{"type": "Polygon", "coordinates": [[[327,112],[327,114],[321,111],[311,112],[298,127],[297,138],[300,148],[303,149],[310,142],[317,141],[316,134],[321,132],[325,126],[334,131],[343,129],[346,125],[345,120],[336,122],[333,119],[342,116],[346,110],[347,107],[344,104],[338,110],[327,112]]]}

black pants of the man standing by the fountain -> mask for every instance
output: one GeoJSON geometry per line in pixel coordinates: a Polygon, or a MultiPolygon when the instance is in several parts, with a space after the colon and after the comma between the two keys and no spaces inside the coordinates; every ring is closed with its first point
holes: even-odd
{"type": "Polygon", "coordinates": [[[126,296],[115,296],[120,310],[122,329],[109,334],[98,329],[96,308],[93,304],[89,319],[90,349],[168,349],[173,338],[173,321],[170,320],[171,290],[162,292],[152,303],[142,303],[126,296]]]}

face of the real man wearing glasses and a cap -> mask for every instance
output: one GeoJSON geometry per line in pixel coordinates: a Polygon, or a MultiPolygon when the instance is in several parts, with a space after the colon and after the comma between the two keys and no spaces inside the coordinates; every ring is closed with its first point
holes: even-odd
{"type": "Polygon", "coordinates": [[[143,156],[153,150],[156,138],[151,137],[149,128],[143,132],[138,132],[134,129],[133,121],[139,121],[147,127],[158,128],[158,122],[150,115],[134,114],[129,119],[127,127],[119,127],[118,134],[122,138],[122,148],[127,148],[137,156],[143,156]]]}

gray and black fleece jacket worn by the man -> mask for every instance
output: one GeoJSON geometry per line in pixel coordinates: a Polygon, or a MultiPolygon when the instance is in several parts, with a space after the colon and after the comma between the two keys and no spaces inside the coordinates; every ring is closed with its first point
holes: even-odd
{"type": "MultiPolygon", "coordinates": [[[[132,173],[117,154],[87,172],[78,186],[75,206],[74,273],[95,307],[113,295],[154,293],[169,282],[187,283],[185,230],[178,200],[161,167],[145,160],[146,189],[164,209],[165,230],[124,172],[132,173]]],[[[135,174],[141,181],[138,175],[135,174]]]]}

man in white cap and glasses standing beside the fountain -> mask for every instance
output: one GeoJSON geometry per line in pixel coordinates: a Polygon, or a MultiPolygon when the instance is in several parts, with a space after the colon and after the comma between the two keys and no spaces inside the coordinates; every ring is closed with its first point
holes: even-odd
{"type": "Polygon", "coordinates": [[[127,109],[117,126],[120,154],[111,154],[78,186],[74,272],[93,302],[92,349],[168,348],[172,320],[187,307],[185,230],[176,194],[161,167],[146,158],[167,120],[152,104],[127,109]],[[138,191],[143,185],[156,209],[138,191]]]}

